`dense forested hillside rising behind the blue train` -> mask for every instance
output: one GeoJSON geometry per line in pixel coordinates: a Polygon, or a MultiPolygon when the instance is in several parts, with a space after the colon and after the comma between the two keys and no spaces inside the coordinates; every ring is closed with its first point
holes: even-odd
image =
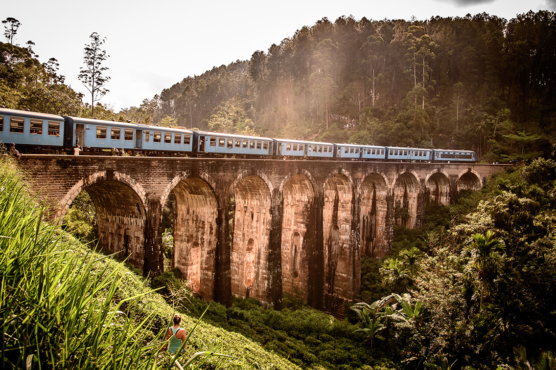
{"type": "MultiPolygon", "coordinates": [[[[24,25],[22,26],[24,27],[24,25]]],[[[0,104],[87,116],[55,58],[0,43],[0,104]]],[[[426,21],[340,17],[249,61],[189,76],[97,118],[270,137],[474,149],[482,162],[547,157],[554,142],[556,15],[426,21]]],[[[110,96],[107,96],[110,99],[110,96]]]]}

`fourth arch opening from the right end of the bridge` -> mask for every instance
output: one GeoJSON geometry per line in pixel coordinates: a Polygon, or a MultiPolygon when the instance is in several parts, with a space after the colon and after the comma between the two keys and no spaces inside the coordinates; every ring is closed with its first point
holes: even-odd
{"type": "Polygon", "coordinates": [[[361,256],[376,257],[385,253],[386,181],[378,173],[365,177],[359,188],[361,214],[361,256]]]}

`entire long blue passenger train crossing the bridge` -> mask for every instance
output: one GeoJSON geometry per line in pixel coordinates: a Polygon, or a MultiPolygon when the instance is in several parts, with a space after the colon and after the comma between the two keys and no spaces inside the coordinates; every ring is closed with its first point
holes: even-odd
{"type": "Polygon", "coordinates": [[[386,147],[277,139],[57,116],[0,108],[0,142],[23,153],[107,155],[112,148],[140,156],[235,157],[392,162],[476,162],[468,150],[386,147]]]}

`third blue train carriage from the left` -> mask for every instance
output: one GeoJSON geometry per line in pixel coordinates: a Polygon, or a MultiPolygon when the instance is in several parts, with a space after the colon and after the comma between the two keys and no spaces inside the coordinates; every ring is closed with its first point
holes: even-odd
{"type": "Polygon", "coordinates": [[[219,132],[195,132],[194,151],[198,156],[266,158],[272,154],[271,138],[219,132]]]}

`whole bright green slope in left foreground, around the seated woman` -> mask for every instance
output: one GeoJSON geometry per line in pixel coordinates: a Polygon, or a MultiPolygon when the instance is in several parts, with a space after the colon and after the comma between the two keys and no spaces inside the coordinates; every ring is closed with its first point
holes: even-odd
{"type": "MultiPolygon", "coordinates": [[[[0,158],[0,271],[3,368],[171,367],[158,350],[173,308],[122,263],[44,222],[6,157],[0,158]]],[[[194,319],[182,317],[183,327],[195,327],[194,319]]],[[[240,334],[202,322],[178,360],[212,349],[235,358],[210,357],[202,368],[297,368],[240,334]]]]}

